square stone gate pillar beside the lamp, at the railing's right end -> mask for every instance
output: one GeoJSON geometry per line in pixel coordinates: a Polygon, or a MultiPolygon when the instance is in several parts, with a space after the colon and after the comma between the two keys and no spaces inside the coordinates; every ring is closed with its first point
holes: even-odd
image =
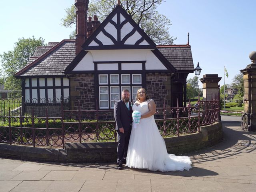
{"type": "Polygon", "coordinates": [[[216,94],[219,94],[218,82],[221,77],[218,74],[206,74],[200,81],[203,84],[203,100],[212,100],[216,94]]]}

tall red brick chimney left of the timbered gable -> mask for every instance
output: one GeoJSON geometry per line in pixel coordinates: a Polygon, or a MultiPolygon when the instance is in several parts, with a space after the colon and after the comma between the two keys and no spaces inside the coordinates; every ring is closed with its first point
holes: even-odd
{"type": "Polygon", "coordinates": [[[86,40],[86,18],[89,0],[75,0],[76,6],[76,55],[86,40]]]}

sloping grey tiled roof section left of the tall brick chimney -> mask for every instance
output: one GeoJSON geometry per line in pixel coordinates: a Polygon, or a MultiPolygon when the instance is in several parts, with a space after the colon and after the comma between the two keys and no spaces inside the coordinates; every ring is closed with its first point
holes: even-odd
{"type": "Polygon", "coordinates": [[[16,76],[63,75],[63,70],[75,56],[74,40],[63,40],[60,43],[51,43],[50,46],[48,44],[38,47],[28,65],[16,76]]]}

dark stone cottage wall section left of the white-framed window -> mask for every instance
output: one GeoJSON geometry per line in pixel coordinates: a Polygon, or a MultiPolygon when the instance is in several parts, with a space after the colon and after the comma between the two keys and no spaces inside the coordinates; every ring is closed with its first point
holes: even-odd
{"type": "Polygon", "coordinates": [[[70,77],[71,110],[95,110],[94,74],[76,74],[70,77]]]}

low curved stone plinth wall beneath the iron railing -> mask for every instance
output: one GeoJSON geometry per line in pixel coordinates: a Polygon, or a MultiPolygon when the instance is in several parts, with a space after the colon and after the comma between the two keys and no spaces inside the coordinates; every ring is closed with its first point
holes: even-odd
{"type": "MultiPolygon", "coordinates": [[[[201,127],[200,133],[164,138],[168,153],[184,154],[222,140],[222,123],[201,127]]],[[[0,157],[47,162],[116,162],[116,142],[67,143],[65,149],[0,144],[0,157]]]]}

